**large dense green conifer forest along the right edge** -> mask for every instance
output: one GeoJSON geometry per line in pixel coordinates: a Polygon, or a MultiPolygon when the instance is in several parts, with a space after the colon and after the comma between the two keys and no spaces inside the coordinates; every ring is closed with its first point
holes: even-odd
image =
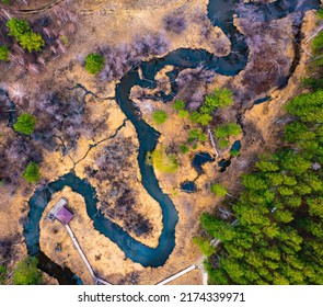
{"type": "MultiPolygon", "coordinates": [[[[286,110],[286,147],[264,155],[242,177],[232,204],[238,224],[201,215],[210,284],[323,284],[323,91],[301,94],[286,110]],[[222,245],[214,253],[209,241],[222,245]],[[209,245],[209,246],[208,246],[209,245]]],[[[218,196],[226,194],[214,185],[218,196]]]]}

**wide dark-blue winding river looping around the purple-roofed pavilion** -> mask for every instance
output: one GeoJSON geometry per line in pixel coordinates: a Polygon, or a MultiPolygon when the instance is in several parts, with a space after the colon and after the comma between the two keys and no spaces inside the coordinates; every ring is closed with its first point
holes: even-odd
{"type": "MultiPolygon", "coordinates": [[[[244,36],[233,25],[233,13],[238,0],[210,0],[208,4],[208,16],[214,25],[220,26],[226,35],[230,38],[232,48],[231,53],[226,57],[217,57],[204,49],[180,48],[169,53],[162,58],[153,58],[149,61],[140,64],[142,71],[142,80],[139,78],[139,67],[127,72],[119,83],[116,86],[116,99],[122,111],[130,121],[137,132],[139,140],[138,163],[142,178],[142,185],[147,192],[160,204],[162,209],[162,234],[160,236],[159,246],[149,248],[139,241],[135,240],[118,225],[105,218],[97,211],[97,198],[95,190],[86,180],[79,179],[73,172],[67,173],[57,181],[51,182],[47,187],[38,190],[30,200],[30,221],[24,227],[25,242],[28,253],[36,255],[39,260],[39,268],[46,271],[49,275],[58,278],[62,284],[80,284],[81,281],[68,270],[53,263],[39,250],[39,220],[42,214],[47,206],[53,193],[62,190],[65,186],[70,186],[72,191],[84,197],[86,212],[94,221],[94,228],[114,241],[134,262],[139,262],[143,266],[160,266],[165,263],[169,255],[175,247],[175,226],[178,220],[177,211],[169,197],[159,186],[153,168],[145,163],[146,155],[155,148],[159,139],[159,132],[148,125],[145,121],[138,117],[138,109],[129,99],[131,88],[140,86],[142,88],[155,88],[157,82],[154,76],[166,65],[174,66],[174,70],[169,72],[169,77],[174,80],[178,73],[186,68],[197,68],[201,64],[206,69],[215,70],[217,73],[224,76],[235,76],[244,69],[247,62],[249,49],[244,36]]],[[[318,8],[319,1],[305,1],[304,8],[318,8]]],[[[298,1],[291,1],[287,8],[284,7],[284,1],[276,1],[270,4],[253,4],[256,9],[266,16],[266,20],[284,18],[288,13],[295,11],[298,1]]],[[[172,83],[173,93],[176,93],[176,84],[172,83]]],[[[158,94],[163,101],[173,99],[171,95],[158,94]]],[[[221,162],[221,161],[220,161],[221,162]]],[[[228,163],[228,162],[227,162],[228,163]]],[[[226,161],[222,166],[226,167],[226,161]]],[[[201,169],[201,168],[200,168],[201,169]]],[[[201,170],[203,171],[203,170],[201,170]]],[[[106,251],[108,253],[108,251],[106,251]]]]}

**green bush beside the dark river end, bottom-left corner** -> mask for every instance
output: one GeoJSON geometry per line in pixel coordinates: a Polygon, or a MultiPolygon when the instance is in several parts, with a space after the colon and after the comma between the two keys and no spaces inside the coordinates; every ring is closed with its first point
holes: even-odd
{"type": "Polygon", "coordinates": [[[14,285],[38,285],[42,283],[42,273],[37,269],[37,259],[28,257],[22,260],[13,270],[12,282],[14,285]]]}

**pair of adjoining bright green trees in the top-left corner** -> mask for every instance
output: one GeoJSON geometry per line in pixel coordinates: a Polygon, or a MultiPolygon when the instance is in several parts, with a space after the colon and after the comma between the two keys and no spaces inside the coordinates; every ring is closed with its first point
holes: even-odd
{"type": "Polygon", "coordinates": [[[45,46],[42,35],[33,32],[25,20],[10,19],[7,26],[9,27],[9,35],[14,36],[18,43],[30,53],[39,52],[45,46]]]}

